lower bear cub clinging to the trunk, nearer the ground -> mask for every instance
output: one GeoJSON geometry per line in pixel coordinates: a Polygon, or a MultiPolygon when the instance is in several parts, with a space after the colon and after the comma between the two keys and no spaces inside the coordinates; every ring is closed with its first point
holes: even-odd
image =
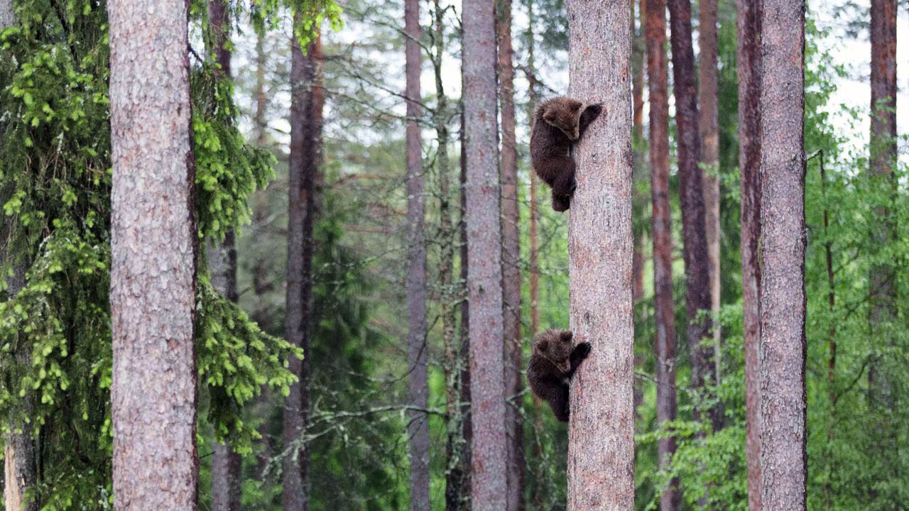
{"type": "Polygon", "coordinates": [[[546,330],[534,339],[527,381],[534,394],[549,403],[555,418],[568,422],[568,382],[590,354],[590,343],[574,346],[570,330],[546,330]]]}

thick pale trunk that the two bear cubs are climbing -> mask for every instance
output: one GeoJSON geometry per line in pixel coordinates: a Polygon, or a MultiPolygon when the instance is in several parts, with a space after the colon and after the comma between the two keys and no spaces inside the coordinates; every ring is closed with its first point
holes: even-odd
{"type": "Polygon", "coordinates": [[[634,509],[631,30],[628,0],[566,2],[569,95],[607,105],[574,150],[571,329],[590,356],[573,378],[568,509],[634,509]],[[608,106],[614,105],[614,106],[608,106]]]}

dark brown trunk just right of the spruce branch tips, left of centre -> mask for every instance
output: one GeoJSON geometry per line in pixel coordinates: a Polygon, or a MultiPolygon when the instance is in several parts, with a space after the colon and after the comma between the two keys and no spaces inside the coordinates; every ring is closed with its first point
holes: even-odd
{"type": "MultiPolygon", "coordinates": [[[[296,38],[291,44],[290,175],[287,213],[287,341],[304,349],[303,360],[292,358],[290,370],[300,378],[285,402],[285,451],[305,434],[309,414],[309,341],[313,311],[313,225],[315,179],[321,158],[322,40],[319,35],[306,54],[296,38]]],[[[309,509],[309,450],[298,445],[284,460],[283,506],[309,509]]]]}

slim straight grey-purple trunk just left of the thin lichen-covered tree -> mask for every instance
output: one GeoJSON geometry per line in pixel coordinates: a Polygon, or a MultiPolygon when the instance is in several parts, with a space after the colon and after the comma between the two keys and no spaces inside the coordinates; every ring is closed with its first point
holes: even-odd
{"type": "MultiPolygon", "coordinates": [[[[406,0],[405,56],[407,97],[407,401],[429,406],[426,365],[425,184],[420,145],[420,4],[406,0]]],[[[410,442],[410,508],[429,508],[429,417],[412,409],[407,415],[410,442]]]]}

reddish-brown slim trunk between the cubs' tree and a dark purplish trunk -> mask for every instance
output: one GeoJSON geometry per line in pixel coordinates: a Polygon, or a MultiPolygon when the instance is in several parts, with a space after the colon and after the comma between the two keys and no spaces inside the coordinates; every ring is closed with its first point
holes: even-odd
{"type": "MultiPolygon", "coordinates": [[[[656,336],[656,422],[675,420],[675,303],[673,300],[673,230],[669,200],[669,93],[666,69],[666,1],[646,5],[647,85],[650,95],[650,194],[653,202],[654,313],[656,336]]],[[[657,456],[667,466],[675,439],[661,438],[657,456]]],[[[676,511],[682,499],[678,479],[660,496],[661,511],[676,511]]]]}

